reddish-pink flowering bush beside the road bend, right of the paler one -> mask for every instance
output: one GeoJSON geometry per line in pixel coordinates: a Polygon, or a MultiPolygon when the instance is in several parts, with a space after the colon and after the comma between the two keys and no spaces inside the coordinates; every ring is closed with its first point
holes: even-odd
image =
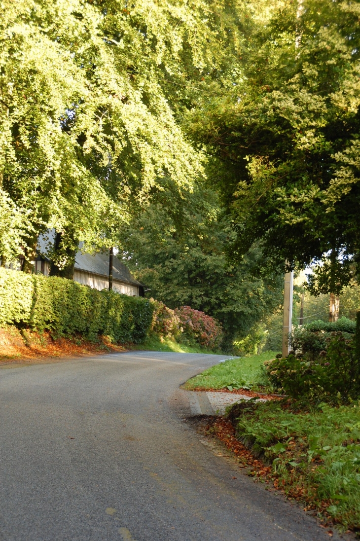
{"type": "Polygon", "coordinates": [[[221,325],[210,315],[189,306],[175,309],[184,334],[190,342],[197,342],[208,349],[217,349],[222,341],[221,325]]]}

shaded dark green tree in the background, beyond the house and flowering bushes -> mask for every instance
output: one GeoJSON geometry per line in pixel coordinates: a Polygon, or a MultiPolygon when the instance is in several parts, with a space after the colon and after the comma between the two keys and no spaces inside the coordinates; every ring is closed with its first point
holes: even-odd
{"type": "Polygon", "coordinates": [[[169,307],[184,305],[221,321],[223,348],[244,337],[281,302],[279,273],[268,272],[261,251],[252,247],[231,263],[226,246],[233,230],[217,195],[204,184],[193,193],[164,190],[122,230],[130,269],[147,295],[169,307]]]}

